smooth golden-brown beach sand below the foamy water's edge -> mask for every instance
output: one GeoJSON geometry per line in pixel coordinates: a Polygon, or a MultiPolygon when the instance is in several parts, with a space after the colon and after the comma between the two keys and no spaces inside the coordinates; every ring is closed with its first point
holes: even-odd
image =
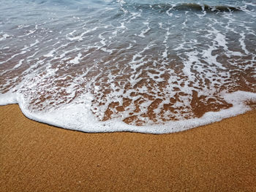
{"type": "Polygon", "coordinates": [[[0,191],[256,191],[256,111],[177,134],[85,134],[0,107],[0,191]]]}

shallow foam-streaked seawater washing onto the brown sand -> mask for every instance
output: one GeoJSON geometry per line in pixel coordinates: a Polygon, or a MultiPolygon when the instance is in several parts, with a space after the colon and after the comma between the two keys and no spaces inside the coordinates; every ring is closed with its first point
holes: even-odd
{"type": "Polygon", "coordinates": [[[162,134],[256,102],[254,0],[0,4],[0,104],[33,120],[162,134]]]}

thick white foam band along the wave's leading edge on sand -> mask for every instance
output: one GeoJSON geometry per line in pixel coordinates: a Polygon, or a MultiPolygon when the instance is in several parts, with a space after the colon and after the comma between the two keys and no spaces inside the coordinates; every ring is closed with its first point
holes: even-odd
{"type": "MultiPolygon", "coordinates": [[[[20,109],[26,117],[37,120],[42,123],[48,123],[53,126],[62,128],[84,131],[84,132],[114,132],[114,131],[132,131],[150,134],[167,134],[177,131],[184,131],[189,128],[203,126],[208,123],[214,123],[224,118],[230,118],[235,115],[242,114],[249,110],[244,104],[245,101],[256,101],[256,93],[244,91],[236,91],[233,93],[223,93],[225,101],[233,104],[226,110],[219,112],[206,112],[201,118],[192,118],[189,120],[170,121],[165,124],[152,126],[131,126],[122,122],[120,119],[112,119],[107,121],[99,121],[94,117],[90,109],[93,96],[86,93],[83,96],[83,104],[74,101],[57,110],[48,112],[30,112],[26,106],[26,101],[22,95],[18,93],[7,93],[0,96],[0,104],[18,103],[20,109]]],[[[146,104],[148,107],[148,104],[146,104]]]]}

